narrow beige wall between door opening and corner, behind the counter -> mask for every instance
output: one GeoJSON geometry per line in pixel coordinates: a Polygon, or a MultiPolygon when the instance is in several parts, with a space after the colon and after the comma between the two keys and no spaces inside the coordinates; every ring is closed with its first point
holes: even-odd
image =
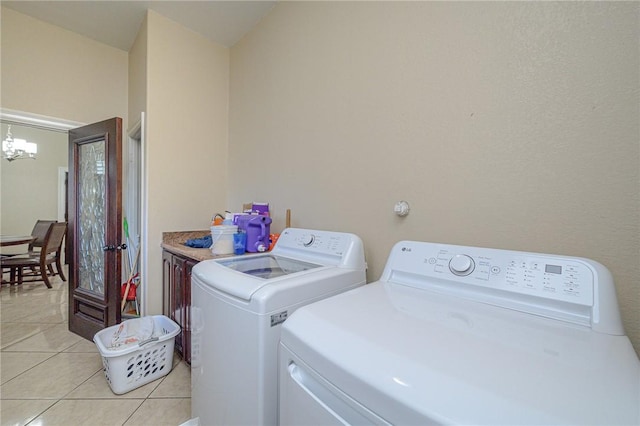
{"type": "Polygon", "coordinates": [[[147,14],[147,313],[162,311],[162,232],[226,208],[229,51],[147,14]]]}

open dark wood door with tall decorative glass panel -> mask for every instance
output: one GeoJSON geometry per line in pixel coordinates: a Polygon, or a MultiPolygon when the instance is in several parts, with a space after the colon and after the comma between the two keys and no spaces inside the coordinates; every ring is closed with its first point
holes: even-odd
{"type": "Polygon", "coordinates": [[[122,119],[69,131],[69,330],[121,320],[122,119]]]}

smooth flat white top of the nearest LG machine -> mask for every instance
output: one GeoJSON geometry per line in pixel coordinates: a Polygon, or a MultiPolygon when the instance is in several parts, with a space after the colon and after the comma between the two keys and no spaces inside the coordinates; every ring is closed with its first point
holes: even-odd
{"type": "Polygon", "coordinates": [[[392,424],[638,424],[626,336],[374,283],[303,306],[282,344],[392,424]]]}

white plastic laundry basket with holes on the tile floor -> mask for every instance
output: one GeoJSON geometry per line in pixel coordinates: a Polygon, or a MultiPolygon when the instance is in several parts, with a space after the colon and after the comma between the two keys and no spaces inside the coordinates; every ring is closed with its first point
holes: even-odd
{"type": "Polygon", "coordinates": [[[109,347],[120,324],[93,336],[102,355],[104,375],[116,394],[129,392],[163,377],[173,367],[174,338],[180,333],[180,326],[164,315],[154,315],[152,319],[152,337],[139,344],[109,347]]]}

